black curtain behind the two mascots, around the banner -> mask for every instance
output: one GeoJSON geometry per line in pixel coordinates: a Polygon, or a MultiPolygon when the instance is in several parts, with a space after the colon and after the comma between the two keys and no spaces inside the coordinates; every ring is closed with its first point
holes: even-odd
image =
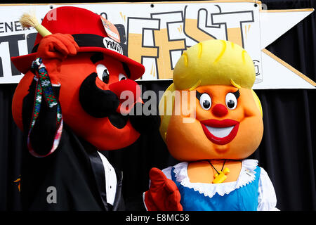
{"type": "MultiPolygon", "coordinates": [[[[316,8],[313,0],[262,2],[268,9],[316,8]]],[[[315,12],[266,49],[316,81],[315,12]]],[[[139,84],[143,91],[158,93],[171,82],[139,84]]],[[[13,182],[19,177],[22,161],[22,132],[11,115],[15,87],[16,84],[0,84],[0,210],[21,209],[18,184],[13,182]]],[[[259,165],[268,172],[279,210],[316,210],[316,90],[256,90],[256,93],[263,105],[264,134],[258,150],[249,158],[259,160],[259,165]]],[[[124,172],[123,191],[129,210],[142,209],[150,168],[164,169],[177,163],[158,131],[143,135],[132,146],[109,155],[110,161],[124,172]]]]}

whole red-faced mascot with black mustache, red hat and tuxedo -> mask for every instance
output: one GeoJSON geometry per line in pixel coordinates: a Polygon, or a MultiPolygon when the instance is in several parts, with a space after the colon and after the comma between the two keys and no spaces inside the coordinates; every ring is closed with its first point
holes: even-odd
{"type": "Polygon", "coordinates": [[[154,116],[126,115],[138,104],[135,79],[145,68],[122,53],[118,32],[100,15],[56,8],[41,25],[32,53],[12,58],[25,76],[13,96],[13,118],[25,134],[21,195],[24,210],[124,210],[121,172],[102,154],[124,148],[154,116]],[[121,109],[122,91],[133,105],[121,109]],[[121,113],[121,112],[124,113],[121,113]]]}

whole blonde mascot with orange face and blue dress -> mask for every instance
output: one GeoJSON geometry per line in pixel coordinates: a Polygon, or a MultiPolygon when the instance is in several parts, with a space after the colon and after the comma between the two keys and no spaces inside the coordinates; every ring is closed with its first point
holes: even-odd
{"type": "Polygon", "coordinates": [[[160,133],[180,163],[150,170],[147,210],[277,210],[267,172],[246,159],[263,136],[255,78],[249,54],[230,41],[183,53],[159,103],[160,133]]]}

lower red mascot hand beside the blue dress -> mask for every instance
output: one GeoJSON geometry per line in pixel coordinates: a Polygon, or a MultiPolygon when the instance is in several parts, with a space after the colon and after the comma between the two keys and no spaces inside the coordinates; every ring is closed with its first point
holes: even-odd
{"type": "Polygon", "coordinates": [[[157,168],[150,169],[150,189],[145,192],[148,211],[182,211],[180,192],[176,184],[157,168]]]}

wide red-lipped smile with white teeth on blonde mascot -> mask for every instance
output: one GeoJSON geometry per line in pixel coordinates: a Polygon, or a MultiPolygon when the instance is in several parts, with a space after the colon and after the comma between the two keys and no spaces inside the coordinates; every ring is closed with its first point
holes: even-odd
{"type": "Polygon", "coordinates": [[[203,120],[201,125],[206,137],[218,145],[230,143],[235,138],[239,122],[235,120],[203,120]]]}

